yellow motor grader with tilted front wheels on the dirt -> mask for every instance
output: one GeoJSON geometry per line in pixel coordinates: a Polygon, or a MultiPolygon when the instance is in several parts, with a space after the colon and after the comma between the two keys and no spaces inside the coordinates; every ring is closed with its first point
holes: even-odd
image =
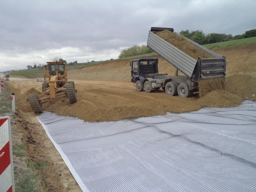
{"type": "Polygon", "coordinates": [[[67,76],[65,61],[47,62],[44,66],[44,81],[42,82],[44,96],[39,99],[36,94],[31,94],[27,99],[35,114],[42,113],[42,103],[53,99],[68,97],[70,103],[76,102],[75,83],[68,81],[67,76]]]}

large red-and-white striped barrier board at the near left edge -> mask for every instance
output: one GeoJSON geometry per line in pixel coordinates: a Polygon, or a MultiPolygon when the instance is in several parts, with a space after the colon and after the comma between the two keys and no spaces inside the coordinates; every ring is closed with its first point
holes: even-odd
{"type": "Polygon", "coordinates": [[[10,117],[0,117],[0,191],[14,191],[10,117]]]}

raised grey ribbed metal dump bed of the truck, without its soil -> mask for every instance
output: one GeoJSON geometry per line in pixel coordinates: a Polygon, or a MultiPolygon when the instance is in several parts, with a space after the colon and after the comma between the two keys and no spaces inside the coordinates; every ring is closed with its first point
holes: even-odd
{"type": "MultiPolygon", "coordinates": [[[[154,32],[156,28],[153,28],[154,32]]],[[[170,29],[170,28],[165,28],[170,29]]],[[[164,30],[164,28],[161,28],[164,30]]],[[[173,31],[172,31],[173,32],[173,31]]],[[[177,33],[176,33],[177,34],[177,33]]],[[[177,34],[179,35],[179,34],[177,34]]],[[[185,37],[184,37],[185,38],[185,37]]],[[[152,31],[148,34],[147,46],[161,55],[170,62],[174,67],[188,76],[191,80],[198,82],[200,78],[224,77],[226,75],[226,59],[196,42],[187,39],[196,47],[209,53],[212,58],[198,58],[198,60],[190,57],[169,42],[160,38],[152,31]]]]}

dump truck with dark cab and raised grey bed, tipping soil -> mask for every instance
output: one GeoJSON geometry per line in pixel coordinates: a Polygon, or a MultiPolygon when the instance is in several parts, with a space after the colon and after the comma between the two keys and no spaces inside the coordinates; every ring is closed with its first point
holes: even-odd
{"type": "MultiPolygon", "coordinates": [[[[152,92],[162,88],[168,95],[190,97],[199,92],[199,79],[218,78],[226,75],[226,58],[220,56],[196,42],[187,39],[197,48],[210,54],[212,58],[194,59],[185,54],[155,33],[163,30],[174,32],[173,28],[152,27],[147,39],[147,46],[166,59],[176,68],[176,75],[158,73],[158,59],[140,58],[131,63],[131,81],[137,91],[152,92]],[[178,71],[184,75],[178,76],[178,71]]],[[[178,33],[176,33],[179,35],[178,33]]]]}

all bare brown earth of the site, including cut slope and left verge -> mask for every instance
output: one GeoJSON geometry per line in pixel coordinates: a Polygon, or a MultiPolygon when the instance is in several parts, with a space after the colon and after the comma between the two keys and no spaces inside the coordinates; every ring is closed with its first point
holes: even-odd
{"type": "MultiPolygon", "coordinates": [[[[256,99],[256,44],[214,50],[225,55],[227,63],[226,87],[191,98],[168,96],[160,89],[154,93],[137,92],[130,82],[132,59],[101,63],[69,71],[75,81],[78,101],[70,104],[67,98],[44,103],[44,110],[62,116],[75,116],[84,121],[115,121],[124,118],[161,115],[166,112],[194,111],[203,106],[231,107],[244,99],[256,99]]],[[[175,68],[159,58],[159,73],[175,74],[175,68]]],[[[9,88],[17,98],[17,114],[33,161],[47,159],[44,167],[44,189],[49,191],[79,191],[67,166],[33,114],[27,97],[31,93],[42,96],[41,82],[36,79],[11,78],[9,88]]]]}

